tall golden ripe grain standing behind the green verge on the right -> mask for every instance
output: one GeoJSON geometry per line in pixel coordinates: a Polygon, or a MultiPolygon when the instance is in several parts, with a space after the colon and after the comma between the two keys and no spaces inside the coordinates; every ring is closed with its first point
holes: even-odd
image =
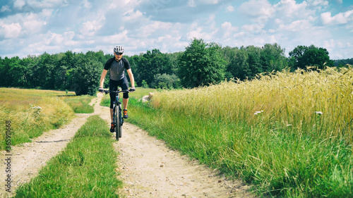
{"type": "Polygon", "coordinates": [[[225,122],[291,127],[322,138],[353,141],[353,68],[297,70],[258,75],[198,89],[158,92],[153,105],[165,111],[225,122]]]}

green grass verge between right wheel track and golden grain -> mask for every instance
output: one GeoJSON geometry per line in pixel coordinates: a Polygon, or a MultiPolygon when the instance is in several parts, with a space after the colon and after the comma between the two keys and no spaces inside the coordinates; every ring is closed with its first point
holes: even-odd
{"type": "Polygon", "coordinates": [[[317,141],[289,129],[186,116],[131,103],[128,121],[183,154],[255,185],[261,195],[349,197],[352,147],[317,141]]]}

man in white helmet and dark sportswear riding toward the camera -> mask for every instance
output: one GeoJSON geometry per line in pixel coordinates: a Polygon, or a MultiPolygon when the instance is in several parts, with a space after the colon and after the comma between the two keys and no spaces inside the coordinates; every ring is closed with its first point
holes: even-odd
{"type": "MultiPolygon", "coordinates": [[[[109,90],[116,91],[118,86],[123,90],[128,90],[128,80],[125,75],[125,70],[128,73],[128,77],[131,82],[130,92],[135,91],[135,80],[133,78],[133,73],[131,71],[130,63],[123,57],[124,48],[121,46],[116,46],[114,48],[114,57],[109,58],[105,63],[102,75],[100,76],[100,89],[102,92],[104,86],[105,75],[107,75],[108,70],[110,70],[110,80],[109,80],[109,90]]],[[[113,122],[113,101],[115,100],[115,94],[110,93],[110,118],[112,119],[112,124],[110,127],[110,132],[114,132],[114,122],[113,122]]],[[[123,106],[124,106],[124,118],[128,118],[128,92],[123,94],[123,106]]]]}

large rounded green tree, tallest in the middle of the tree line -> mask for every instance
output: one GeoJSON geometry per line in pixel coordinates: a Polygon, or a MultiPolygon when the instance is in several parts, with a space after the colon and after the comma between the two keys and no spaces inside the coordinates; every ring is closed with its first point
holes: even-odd
{"type": "Polygon", "coordinates": [[[184,87],[198,87],[225,79],[225,58],[221,47],[194,38],[179,56],[179,78],[184,87]]]}

